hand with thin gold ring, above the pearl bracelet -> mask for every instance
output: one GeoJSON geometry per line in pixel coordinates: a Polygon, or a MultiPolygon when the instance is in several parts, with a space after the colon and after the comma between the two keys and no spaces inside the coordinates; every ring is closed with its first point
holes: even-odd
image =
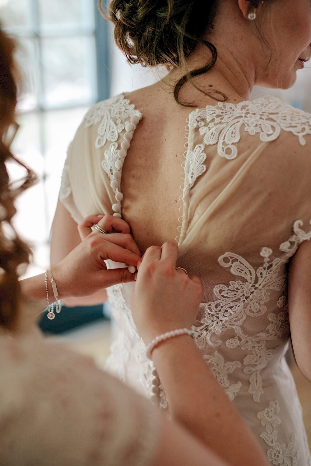
{"type": "Polygon", "coordinates": [[[131,311],[145,344],[165,332],[193,325],[202,298],[198,277],[176,270],[178,247],[166,242],[149,247],[131,293],[131,311]]]}

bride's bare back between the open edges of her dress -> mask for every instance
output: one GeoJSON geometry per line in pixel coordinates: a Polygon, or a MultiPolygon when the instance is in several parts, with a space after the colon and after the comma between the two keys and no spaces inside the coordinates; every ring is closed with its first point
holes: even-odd
{"type": "Polygon", "coordinates": [[[175,241],[180,225],[186,119],[191,109],[159,87],[125,95],[141,111],[121,178],[122,216],[142,252],[175,241]]]}

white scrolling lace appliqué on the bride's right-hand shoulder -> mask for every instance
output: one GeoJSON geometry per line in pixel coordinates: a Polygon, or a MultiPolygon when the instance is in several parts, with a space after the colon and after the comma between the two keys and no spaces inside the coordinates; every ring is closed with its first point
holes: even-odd
{"type": "Polygon", "coordinates": [[[311,134],[311,116],[268,97],[237,105],[207,105],[205,109],[191,112],[189,117],[189,128],[199,127],[204,144],[218,143],[218,154],[229,160],[237,156],[235,144],[240,141],[242,126],[250,135],[259,134],[263,142],[274,141],[283,130],[297,136],[304,145],[304,136],[311,134]]]}

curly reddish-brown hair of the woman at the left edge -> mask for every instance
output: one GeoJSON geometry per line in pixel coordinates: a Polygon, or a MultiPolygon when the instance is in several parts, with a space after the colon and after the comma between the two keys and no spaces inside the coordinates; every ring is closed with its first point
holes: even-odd
{"type": "MultiPolygon", "coordinates": [[[[15,43],[0,29],[0,136],[14,120],[17,85],[14,66],[15,43]]],[[[34,182],[34,174],[16,160],[0,138],[0,326],[14,330],[21,301],[17,267],[29,262],[30,249],[15,233],[11,219],[16,212],[14,201],[34,182]],[[15,160],[27,175],[18,188],[10,184],[7,160],[15,160]]]]}

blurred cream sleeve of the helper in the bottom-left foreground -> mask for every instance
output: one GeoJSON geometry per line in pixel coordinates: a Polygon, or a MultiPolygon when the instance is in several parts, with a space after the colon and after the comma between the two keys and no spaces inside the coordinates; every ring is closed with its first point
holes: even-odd
{"type": "Polygon", "coordinates": [[[0,336],[1,464],[150,466],[160,414],[83,356],[0,336]]]}

